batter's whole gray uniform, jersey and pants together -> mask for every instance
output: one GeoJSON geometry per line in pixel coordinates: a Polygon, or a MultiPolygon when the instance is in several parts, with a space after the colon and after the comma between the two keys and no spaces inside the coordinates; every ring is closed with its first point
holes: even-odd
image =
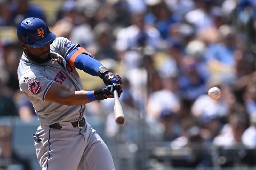
{"type": "Polygon", "coordinates": [[[58,37],[50,45],[54,61],[38,64],[25,53],[20,60],[20,90],[33,104],[40,121],[36,133],[42,141],[35,141],[37,158],[43,170],[112,170],[115,168],[111,154],[96,131],[87,123],[82,128],[71,124],[85,118],[85,104],[67,106],[44,100],[54,82],[70,91],[84,89],[76,68],[65,61],[77,46],[67,38],[58,37]],[[62,128],[49,128],[54,123],[62,128]]]}

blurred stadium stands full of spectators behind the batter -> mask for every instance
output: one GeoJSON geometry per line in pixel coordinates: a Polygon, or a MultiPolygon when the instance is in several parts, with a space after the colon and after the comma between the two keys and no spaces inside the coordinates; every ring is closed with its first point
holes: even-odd
{"type": "MultiPolygon", "coordinates": [[[[32,16],[123,78],[124,126],[111,99],[86,108],[116,169],[255,169],[255,11],[253,0],[1,0],[0,169],[40,169],[17,80],[16,26],[32,16]]],[[[104,86],[80,73],[85,90],[104,86]]]]}

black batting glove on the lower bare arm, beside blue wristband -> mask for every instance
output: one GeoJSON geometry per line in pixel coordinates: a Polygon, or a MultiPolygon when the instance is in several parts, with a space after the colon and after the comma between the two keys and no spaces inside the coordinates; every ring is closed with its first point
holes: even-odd
{"type": "Polygon", "coordinates": [[[122,85],[113,83],[112,85],[108,85],[103,89],[94,90],[93,94],[97,100],[114,98],[114,90],[117,90],[118,96],[120,97],[123,92],[122,85]]]}

